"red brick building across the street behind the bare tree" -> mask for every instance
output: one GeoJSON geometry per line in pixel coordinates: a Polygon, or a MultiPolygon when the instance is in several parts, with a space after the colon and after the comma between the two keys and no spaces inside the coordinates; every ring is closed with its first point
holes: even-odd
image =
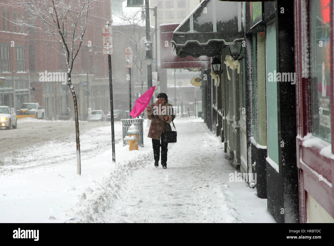
{"type": "MultiPolygon", "coordinates": [[[[107,0],[94,4],[72,70],[79,119],[87,117],[89,107],[105,112],[110,108],[108,60],[102,55],[101,26],[110,21],[111,3],[107,0]]],[[[24,28],[8,20],[23,14],[20,9],[0,5],[0,81],[3,82],[0,82],[0,105],[17,108],[23,102],[36,100],[45,108],[47,119],[66,115],[67,110],[73,117],[68,86],[62,82],[39,81],[39,74],[45,71],[66,72],[65,57],[58,52],[62,48],[54,38],[40,30],[27,34],[24,28]]]]}

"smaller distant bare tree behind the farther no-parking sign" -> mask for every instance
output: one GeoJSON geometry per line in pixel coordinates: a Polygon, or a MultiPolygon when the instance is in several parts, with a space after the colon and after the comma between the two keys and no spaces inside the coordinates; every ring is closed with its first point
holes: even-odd
{"type": "Polygon", "coordinates": [[[141,25],[141,22],[142,22],[141,11],[138,10],[135,12],[125,14],[123,16],[116,15],[116,14],[113,14],[113,15],[117,16],[121,20],[121,22],[123,22],[122,24],[120,24],[120,26],[126,25],[127,27],[129,26],[131,28],[127,32],[120,31],[120,30],[117,30],[119,28],[117,28],[114,24],[113,32],[122,34],[124,37],[129,39],[130,42],[134,46],[133,63],[138,68],[138,71],[140,73],[140,80],[141,80],[140,92],[141,94],[143,94],[143,85],[144,85],[143,77],[145,75],[143,72],[143,68],[146,63],[144,62],[145,49],[144,49],[143,44],[141,44],[141,42],[144,41],[143,37],[146,40],[146,36],[145,36],[145,32],[143,32],[145,31],[145,26],[141,25]]]}

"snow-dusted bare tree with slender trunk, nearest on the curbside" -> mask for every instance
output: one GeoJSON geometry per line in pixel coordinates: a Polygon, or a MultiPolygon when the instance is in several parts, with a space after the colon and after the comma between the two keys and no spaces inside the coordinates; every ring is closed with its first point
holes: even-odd
{"type": "MultiPolygon", "coordinates": [[[[54,37],[62,47],[66,60],[67,85],[73,96],[74,118],[75,118],[75,140],[77,174],[81,175],[80,140],[78,107],[71,82],[73,62],[81,47],[82,38],[85,34],[88,13],[94,7],[95,0],[9,0],[0,3],[2,7],[23,9],[25,15],[18,19],[10,19],[12,23],[26,27],[26,32],[40,30],[54,37]]],[[[55,48],[57,52],[58,49],[55,48]]]]}

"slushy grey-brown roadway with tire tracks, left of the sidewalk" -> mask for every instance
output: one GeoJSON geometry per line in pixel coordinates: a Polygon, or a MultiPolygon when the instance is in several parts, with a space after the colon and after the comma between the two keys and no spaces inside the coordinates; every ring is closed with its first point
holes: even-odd
{"type": "MultiPolygon", "coordinates": [[[[106,136],[104,141],[94,141],[99,136],[98,126],[109,126],[110,122],[80,121],[81,155],[89,155],[110,145],[111,138],[106,136]],[[87,143],[87,144],[86,144],[87,143]]],[[[115,127],[122,132],[121,122],[115,122],[115,127]]],[[[116,142],[122,136],[116,137],[116,142]]],[[[63,160],[75,160],[75,126],[74,121],[40,120],[34,118],[18,119],[18,129],[10,131],[0,129],[2,145],[0,174],[10,174],[14,169],[59,163],[63,160]]],[[[96,153],[95,153],[96,154],[96,153]]]]}

